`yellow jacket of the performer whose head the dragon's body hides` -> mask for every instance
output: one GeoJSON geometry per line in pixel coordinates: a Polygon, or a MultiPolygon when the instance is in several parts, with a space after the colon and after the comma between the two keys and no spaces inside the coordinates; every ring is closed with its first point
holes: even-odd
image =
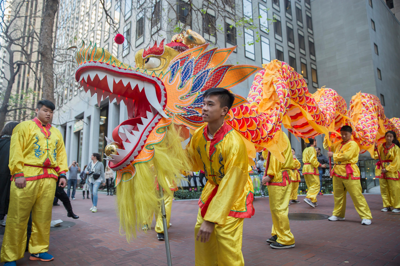
{"type": "Polygon", "coordinates": [[[291,169],[294,168],[293,155],[291,154],[291,146],[286,134],[282,132],[287,142],[286,149],[281,153],[284,157],[284,163],[279,162],[271,153],[263,151],[262,156],[265,159],[265,169],[268,177],[272,178],[267,182],[267,186],[287,186],[290,184],[291,169]]]}

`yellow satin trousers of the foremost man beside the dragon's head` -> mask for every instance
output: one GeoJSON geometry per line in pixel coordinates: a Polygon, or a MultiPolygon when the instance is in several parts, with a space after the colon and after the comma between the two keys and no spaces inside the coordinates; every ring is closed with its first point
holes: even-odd
{"type": "MultiPolygon", "coordinates": [[[[194,239],[204,222],[198,209],[197,222],[194,227],[194,239]]],[[[209,241],[194,241],[196,266],[243,266],[241,239],[243,235],[243,218],[227,217],[223,227],[215,225],[209,241]]]]}

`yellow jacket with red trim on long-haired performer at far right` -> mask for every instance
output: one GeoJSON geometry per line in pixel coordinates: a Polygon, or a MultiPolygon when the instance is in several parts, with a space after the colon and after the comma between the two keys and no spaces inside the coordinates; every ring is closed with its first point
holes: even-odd
{"type": "MultiPolygon", "coordinates": [[[[391,144],[389,148],[386,148],[386,143],[380,144],[378,146],[378,151],[380,155],[380,159],[382,160],[383,163],[383,168],[387,170],[386,179],[391,179],[391,180],[399,180],[400,178],[400,148],[398,146],[391,144]]],[[[378,154],[375,150],[373,157],[378,160],[378,154]]],[[[375,177],[377,178],[383,178],[382,172],[381,172],[381,165],[380,162],[378,161],[376,163],[376,168],[375,168],[375,177]]]]}

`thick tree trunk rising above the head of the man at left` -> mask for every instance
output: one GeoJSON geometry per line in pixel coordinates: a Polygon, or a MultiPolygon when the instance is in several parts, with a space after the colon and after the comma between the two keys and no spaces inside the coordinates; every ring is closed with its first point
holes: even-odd
{"type": "Polygon", "coordinates": [[[54,102],[53,73],[53,27],[54,17],[58,9],[58,0],[46,0],[40,25],[40,60],[42,74],[43,99],[54,102]]]}

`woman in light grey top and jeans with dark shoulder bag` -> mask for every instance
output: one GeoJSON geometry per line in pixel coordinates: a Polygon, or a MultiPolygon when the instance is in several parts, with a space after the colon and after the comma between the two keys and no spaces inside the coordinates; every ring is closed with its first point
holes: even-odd
{"type": "Polygon", "coordinates": [[[101,185],[105,185],[104,166],[101,163],[101,157],[98,153],[93,153],[90,156],[91,162],[87,165],[86,183],[89,184],[91,202],[93,205],[90,208],[92,213],[97,212],[97,190],[101,185]]]}

